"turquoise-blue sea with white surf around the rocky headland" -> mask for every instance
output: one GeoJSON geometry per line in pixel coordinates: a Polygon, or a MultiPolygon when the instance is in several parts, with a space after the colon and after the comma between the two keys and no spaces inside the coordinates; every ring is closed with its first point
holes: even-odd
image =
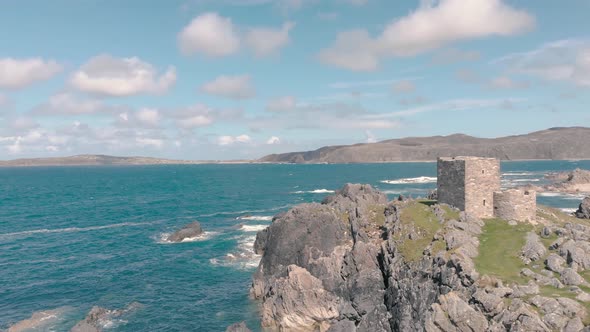
{"type": "MultiPolygon", "coordinates": [[[[576,167],[590,161],[505,162],[502,183],[576,167]]],[[[93,305],[133,301],[142,306],[105,330],[223,331],[242,320],[257,330],[252,243],[271,216],[347,182],[421,196],[435,176],[434,163],[0,168],[0,330],[57,308],[40,330],[67,331],[93,305]],[[161,240],[193,220],[202,238],[161,240]]],[[[580,200],[539,196],[565,209],[580,200]]]]}

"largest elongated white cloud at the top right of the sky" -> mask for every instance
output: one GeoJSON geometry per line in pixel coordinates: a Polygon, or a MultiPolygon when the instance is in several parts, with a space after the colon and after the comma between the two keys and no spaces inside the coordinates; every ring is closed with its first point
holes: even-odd
{"type": "Polygon", "coordinates": [[[339,33],[319,58],[336,67],[371,71],[383,58],[414,56],[461,40],[510,36],[534,25],[534,17],[502,0],[423,1],[420,8],[388,24],[377,37],[364,29],[339,33]]]}

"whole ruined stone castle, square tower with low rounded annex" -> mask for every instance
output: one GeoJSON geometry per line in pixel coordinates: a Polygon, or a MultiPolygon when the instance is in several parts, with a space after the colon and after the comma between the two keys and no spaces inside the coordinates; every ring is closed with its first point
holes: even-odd
{"type": "Polygon", "coordinates": [[[534,191],[500,190],[500,160],[479,157],[438,158],[439,203],[477,218],[532,221],[537,210],[534,191]]]}

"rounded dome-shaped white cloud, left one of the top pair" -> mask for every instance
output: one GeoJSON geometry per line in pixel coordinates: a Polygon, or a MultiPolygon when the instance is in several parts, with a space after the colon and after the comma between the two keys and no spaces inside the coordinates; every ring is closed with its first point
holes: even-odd
{"type": "Polygon", "coordinates": [[[230,18],[217,13],[195,17],[179,34],[178,45],[185,55],[227,56],[240,48],[240,38],[230,18]]]}

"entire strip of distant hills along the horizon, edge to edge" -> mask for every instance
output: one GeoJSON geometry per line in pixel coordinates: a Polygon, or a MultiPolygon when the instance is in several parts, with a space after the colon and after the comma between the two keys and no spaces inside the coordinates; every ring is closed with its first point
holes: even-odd
{"type": "Polygon", "coordinates": [[[502,160],[590,159],[590,128],[550,128],[526,135],[500,138],[477,138],[463,134],[408,137],[378,143],[327,146],[314,151],[272,154],[251,161],[194,161],[151,157],[77,155],[0,161],[0,167],[205,163],[380,163],[435,161],[440,156],[459,155],[494,157],[502,160]]]}

